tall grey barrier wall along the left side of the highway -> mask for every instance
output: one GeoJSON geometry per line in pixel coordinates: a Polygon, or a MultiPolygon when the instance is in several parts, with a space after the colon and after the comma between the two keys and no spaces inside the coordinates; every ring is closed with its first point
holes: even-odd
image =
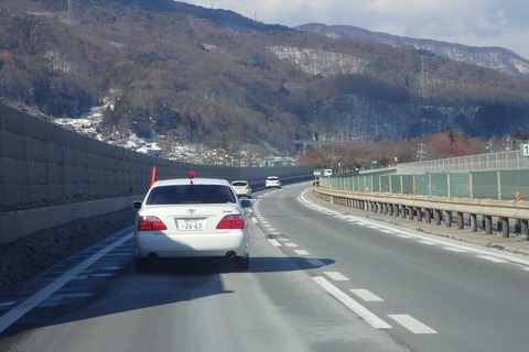
{"type": "Polygon", "coordinates": [[[312,166],[228,167],[181,163],[110,145],[0,103],[0,244],[141,199],[156,179],[246,179],[264,185],[313,178],[312,166]]]}

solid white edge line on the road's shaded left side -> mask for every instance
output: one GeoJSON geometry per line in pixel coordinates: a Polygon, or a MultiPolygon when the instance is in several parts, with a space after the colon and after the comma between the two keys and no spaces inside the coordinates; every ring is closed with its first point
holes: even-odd
{"type": "MultiPolygon", "coordinates": [[[[127,229],[125,231],[130,232],[130,229],[127,229]]],[[[39,306],[47,297],[53,295],[61,287],[63,287],[73,278],[75,278],[79,273],[85,271],[88,266],[90,266],[91,264],[100,260],[102,256],[105,256],[105,254],[118,248],[119,245],[121,245],[122,243],[127,242],[130,239],[132,239],[132,232],[120,238],[118,241],[109,244],[108,246],[104,248],[96,254],[86,258],[84,262],[77,264],[77,266],[72,268],[69,272],[64,273],[53,283],[51,283],[50,285],[47,285],[46,287],[44,287],[33,296],[31,296],[30,298],[21,302],[19,306],[14,307],[13,309],[4,314],[2,317],[0,317],[0,333],[2,333],[3,330],[8,329],[12,323],[14,323],[21,317],[23,317],[28,311],[39,306]]]]}

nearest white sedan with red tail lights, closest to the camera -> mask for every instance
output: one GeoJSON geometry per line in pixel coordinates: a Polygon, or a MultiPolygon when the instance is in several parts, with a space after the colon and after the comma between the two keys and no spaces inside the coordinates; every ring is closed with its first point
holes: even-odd
{"type": "Polygon", "coordinates": [[[237,271],[249,268],[246,207],[230,184],[215,178],[155,182],[136,201],[136,268],[148,271],[159,260],[225,257],[237,271]]]}

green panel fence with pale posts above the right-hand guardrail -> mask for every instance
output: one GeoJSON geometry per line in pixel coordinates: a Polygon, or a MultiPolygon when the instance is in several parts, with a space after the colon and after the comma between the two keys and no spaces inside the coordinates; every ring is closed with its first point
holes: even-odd
{"type": "Polygon", "coordinates": [[[529,169],[425,173],[420,175],[334,175],[320,185],[336,190],[472,199],[529,199],[529,169]]]}

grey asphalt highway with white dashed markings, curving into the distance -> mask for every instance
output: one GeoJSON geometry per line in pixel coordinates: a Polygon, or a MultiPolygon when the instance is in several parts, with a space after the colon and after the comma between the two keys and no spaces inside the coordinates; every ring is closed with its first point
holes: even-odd
{"type": "Polygon", "coordinates": [[[133,270],[130,229],[0,297],[0,351],[520,351],[529,261],[256,195],[250,271],[133,270]]]}

